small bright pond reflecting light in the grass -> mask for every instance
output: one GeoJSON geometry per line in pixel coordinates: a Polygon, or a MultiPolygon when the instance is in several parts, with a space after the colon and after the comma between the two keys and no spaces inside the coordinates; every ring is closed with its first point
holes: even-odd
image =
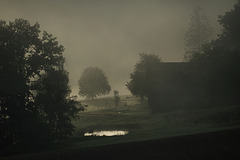
{"type": "Polygon", "coordinates": [[[123,136],[128,133],[129,131],[94,131],[84,133],[84,136],[123,136]]]}

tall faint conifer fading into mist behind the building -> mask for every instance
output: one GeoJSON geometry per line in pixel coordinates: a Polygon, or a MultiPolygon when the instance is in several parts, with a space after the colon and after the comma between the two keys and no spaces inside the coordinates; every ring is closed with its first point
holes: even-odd
{"type": "Polygon", "coordinates": [[[189,28],[185,33],[184,61],[190,61],[194,54],[202,52],[202,45],[212,38],[213,29],[203,9],[196,6],[191,16],[189,28]]]}

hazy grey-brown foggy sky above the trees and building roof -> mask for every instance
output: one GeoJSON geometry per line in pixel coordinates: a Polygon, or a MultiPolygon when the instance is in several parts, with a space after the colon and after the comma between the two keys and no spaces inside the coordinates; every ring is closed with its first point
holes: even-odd
{"type": "MultiPolygon", "coordinates": [[[[112,91],[130,94],[125,84],[139,53],[154,53],[164,62],[181,62],[194,7],[205,11],[214,35],[218,15],[236,0],[0,0],[0,19],[38,22],[65,47],[72,95],[87,67],[99,67],[112,91]]],[[[216,36],[215,36],[216,37],[216,36]]],[[[112,93],[111,93],[112,94],[112,93]]]]}

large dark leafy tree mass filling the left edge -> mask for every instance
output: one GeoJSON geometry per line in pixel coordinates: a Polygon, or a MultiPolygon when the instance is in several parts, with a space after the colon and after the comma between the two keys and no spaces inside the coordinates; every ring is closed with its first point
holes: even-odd
{"type": "Polygon", "coordinates": [[[1,147],[46,145],[69,133],[59,121],[68,123],[77,110],[69,97],[63,51],[55,37],[41,34],[38,23],[0,21],[1,147]],[[49,118],[51,114],[57,118],[49,118]],[[56,123],[58,127],[51,127],[56,123]],[[53,132],[59,130],[56,138],[53,132]]]}

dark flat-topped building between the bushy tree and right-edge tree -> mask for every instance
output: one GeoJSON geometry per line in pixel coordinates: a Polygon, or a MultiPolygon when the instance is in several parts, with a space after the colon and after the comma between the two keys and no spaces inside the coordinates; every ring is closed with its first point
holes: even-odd
{"type": "MultiPolygon", "coordinates": [[[[219,66],[161,63],[152,70],[149,76],[151,84],[149,105],[152,112],[228,105],[236,101],[238,95],[235,95],[235,98],[226,95],[224,88],[229,88],[229,86],[225,84],[224,78],[215,79],[218,75],[215,68],[219,69],[219,66]]],[[[226,76],[221,75],[221,77],[226,76]]]]}

